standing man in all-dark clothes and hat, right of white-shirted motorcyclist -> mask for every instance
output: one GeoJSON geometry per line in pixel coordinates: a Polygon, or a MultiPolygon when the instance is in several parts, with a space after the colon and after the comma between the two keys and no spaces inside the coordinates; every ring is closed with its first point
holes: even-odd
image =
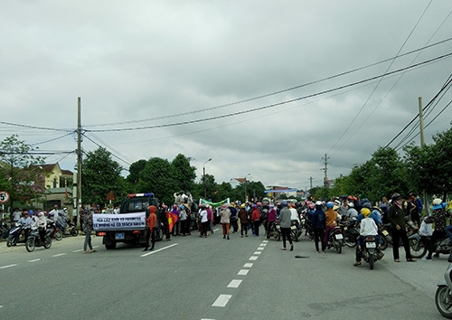
{"type": "Polygon", "coordinates": [[[403,209],[401,195],[399,193],[392,194],[392,205],[388,212],[388,220],[391,222],[392,230],[392,255],[395,262],[400,262],[399,241],[405,249],[405,256],[408,262],[414,262],[417,259],[411,257],[410,242],[408,240],[407,229],[405,226],[405,211],[403,209]]]}

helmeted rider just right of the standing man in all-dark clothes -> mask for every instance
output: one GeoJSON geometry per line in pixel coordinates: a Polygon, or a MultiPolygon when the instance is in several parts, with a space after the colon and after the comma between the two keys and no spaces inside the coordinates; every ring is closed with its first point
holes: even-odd
{"type": "MultiPolygon", "coordinates": [[[[432,207],[432,214],[425,218],[426,223],[433,223],[435,222],[435,230],[433,231],[433,234],[431,235],[430,239],[426,238],[428,240],[428,255],[427,257],[422,258],[424,261],[431,261],[431,257],[433,255],[433,251],[435,251],[435,243],[438,240],[442,240],[446,238],[446,218],[447,218],[447,212],[446,208],[441,202],[441,199],[434,199],[432,207]]],[[[439,257],[439,253],[435,253],[435,257],[439,257]]]]}

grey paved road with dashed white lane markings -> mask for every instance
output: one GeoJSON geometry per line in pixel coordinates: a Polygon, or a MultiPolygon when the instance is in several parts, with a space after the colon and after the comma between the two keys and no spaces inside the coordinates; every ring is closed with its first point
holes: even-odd
{"type": "Polygon", "coordinates": [[[83,254],[83,238],[32,253],[0,242],[0,319],[442,318],[434,295],[446,256],[395,263],[390,248],[370,270],[352,266],[354,249],[317,254],[306,239],[290,252],[217,231],[142,252],[93,237],[98,252],[83,254]]]}

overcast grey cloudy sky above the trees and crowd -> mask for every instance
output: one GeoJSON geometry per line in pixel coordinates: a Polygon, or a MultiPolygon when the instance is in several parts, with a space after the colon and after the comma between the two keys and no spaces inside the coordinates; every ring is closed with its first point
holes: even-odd
{"type": "MultiPolygon", "coordinates": [[[[321,185],[325,155],[329,178],[349,174],[450,80],[451,12],[448,0],[2,1],[0,140],[17,133],[73,170],[80,97],[84,151],[104,146],[125,169],[183,154],[197,180],[212,158],[217,183],[321,185]]],[[[427,143],[450,128],[447,89],[425,111],[427,143]]]]}

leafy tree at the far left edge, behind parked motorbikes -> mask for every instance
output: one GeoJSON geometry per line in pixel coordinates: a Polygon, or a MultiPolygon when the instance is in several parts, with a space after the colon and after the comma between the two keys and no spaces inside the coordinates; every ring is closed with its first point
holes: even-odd
{"type": "Polygon", "coordinates": [[[37,149],[20,140],[17,134],[0,143],[0,183],[11,196],[11,206],[23,205],[44,191],[40,180],[45,174],[37,165],[42,163],[42,157],[31,153],[37,149]]]}

